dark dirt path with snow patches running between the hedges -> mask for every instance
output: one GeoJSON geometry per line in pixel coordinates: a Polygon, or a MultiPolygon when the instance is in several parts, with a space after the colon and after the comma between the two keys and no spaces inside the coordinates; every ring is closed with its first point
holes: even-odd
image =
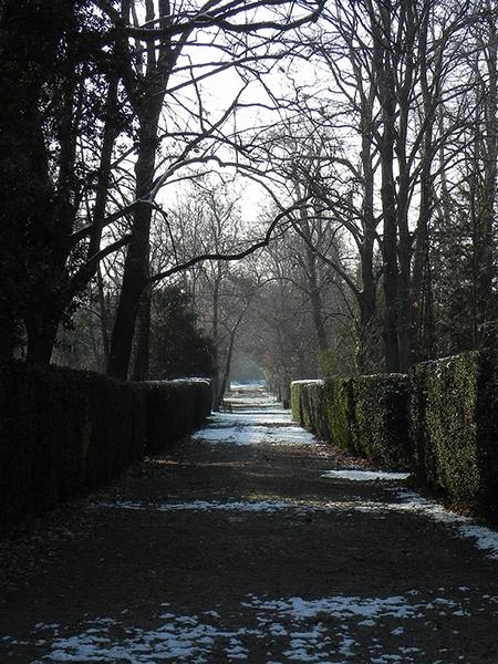
{"type": "Polygon", "coordinates": [[[41,542],[1,664],[497,664],[497,535],[353,465],[236,396],[41,542]]]}

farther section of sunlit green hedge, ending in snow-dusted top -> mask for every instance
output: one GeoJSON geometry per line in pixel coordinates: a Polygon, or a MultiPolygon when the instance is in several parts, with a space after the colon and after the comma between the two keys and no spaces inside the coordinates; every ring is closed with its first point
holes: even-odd
{"type": "Polygon", "coordinates": [[[291,391],[292,416],[307,428],[386,468],[409,464],[407,376],[295,381],[291,391]]]}

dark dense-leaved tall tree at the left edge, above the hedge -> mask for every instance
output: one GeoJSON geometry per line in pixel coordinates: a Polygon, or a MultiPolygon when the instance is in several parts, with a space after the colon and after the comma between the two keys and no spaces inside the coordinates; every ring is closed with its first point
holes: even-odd
{"type": "Polygon", "coordinates": [[[0,29],[9,91],[0,132],[1,263],[11,302],[1,318],[11,328],[23,323],[28,360],[46,363],[64,312],[114,249],[101,253],[100,239],[118,133],[117,77],[112,50],[102,50],[105,23],[86,0],[8,1],[0,29]]]}

